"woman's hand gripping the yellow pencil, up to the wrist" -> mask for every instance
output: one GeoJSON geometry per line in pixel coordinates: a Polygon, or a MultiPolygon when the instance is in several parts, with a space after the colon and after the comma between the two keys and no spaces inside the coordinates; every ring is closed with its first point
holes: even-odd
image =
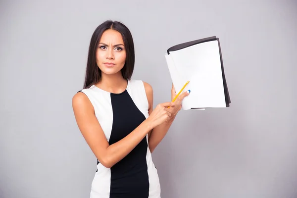
{"type": "Polygon", "coordinates": [[[167,107],[171,106],[172,104],[173,104],[172,102],[160,103],[150,113],[147,120],[149,121],[152,128],[155,128],[156,126],[169,120],[171,116],[171,109],[167,107]]]}

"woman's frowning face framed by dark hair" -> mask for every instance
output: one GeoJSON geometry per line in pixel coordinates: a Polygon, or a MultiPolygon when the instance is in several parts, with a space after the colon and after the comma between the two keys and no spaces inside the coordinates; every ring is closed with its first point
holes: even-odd
{"type": "Polygon", "coordinates": [[[102,75],[120,73],[126,62],[122,35],[116,30],[106,30],[99,41],[96,61],[102,75]]]}

